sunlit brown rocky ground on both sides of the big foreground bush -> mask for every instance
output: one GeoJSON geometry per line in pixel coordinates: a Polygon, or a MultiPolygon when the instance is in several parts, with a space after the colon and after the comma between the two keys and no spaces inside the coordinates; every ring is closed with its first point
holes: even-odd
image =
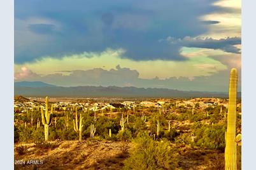
{"type": "MultiPolygon", "coordinates": [[[[179,169],[224,168],[223,153],[185,145],[173,147],[178,148],[180,155],[179,169]]],[[[15,169],[122,169],[123,161],[129,157],[129,148],[131,143],[106,140],[18,144],[15,145],[15,169]]]]}

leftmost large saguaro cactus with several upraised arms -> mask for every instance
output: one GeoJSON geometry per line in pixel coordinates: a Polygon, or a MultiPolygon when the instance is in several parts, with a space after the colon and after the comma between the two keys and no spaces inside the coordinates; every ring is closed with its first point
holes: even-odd
{"type": "Polygon", "coordinates": [[[45,126],[45,141],[48,141],[49,125],[52,124],[53,105],[50,113],[48,112],[48,96],[45,98],[45,114],[43,113],[43,107],[41,107],[42,123],[45,126]]]}

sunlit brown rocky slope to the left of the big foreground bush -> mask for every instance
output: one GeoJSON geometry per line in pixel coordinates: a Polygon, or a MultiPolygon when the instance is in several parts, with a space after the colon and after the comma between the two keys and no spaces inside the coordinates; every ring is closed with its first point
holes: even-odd
{"type": "Polygon", "coordinates": [[[20,144],[15,145],[15,169],[122,169],[128,148],[129,143],[96,140],[20,144]],[[38,160],[39,165],[27,160],[38,160]]]}

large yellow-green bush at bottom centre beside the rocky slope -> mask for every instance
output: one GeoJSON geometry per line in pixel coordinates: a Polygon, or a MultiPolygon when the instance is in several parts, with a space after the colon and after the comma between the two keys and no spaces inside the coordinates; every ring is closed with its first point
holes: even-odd
{"type": "Polygon", "coordinates": [[[124,169],[175,169],[178,159],[168,141],[154,141],[147,133],[139,133],[132,141],[130,157],[124,169]]]}

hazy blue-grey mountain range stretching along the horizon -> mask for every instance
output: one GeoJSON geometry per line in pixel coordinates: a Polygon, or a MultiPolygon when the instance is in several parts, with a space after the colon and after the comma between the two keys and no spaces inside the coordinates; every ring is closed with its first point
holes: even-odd
{"type": "MultiPolygon", "coordinates": [[[[14,95],[52,97],[219,97],[227,98],[225,92],[179,91],[166,88],[136,88],[117,86],[76,86],[61,87],[45,82],[15,82],[14,95]]],[[[238,93],[241,98],[241,93],[238,93]]]]}

